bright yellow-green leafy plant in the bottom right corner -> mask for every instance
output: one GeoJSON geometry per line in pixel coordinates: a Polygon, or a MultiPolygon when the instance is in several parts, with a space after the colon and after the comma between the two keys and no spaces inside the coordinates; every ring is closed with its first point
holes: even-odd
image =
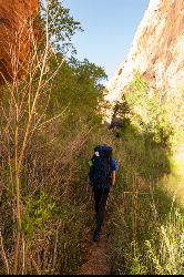
{"type": "Polygon", "coordinates": [[[145,242],[147,264],[156,275],[182,275],[184,253],[184,216],[176,208],[168,214],[167,222],[160,226],[159,248],[155,238],[145,242]]]}

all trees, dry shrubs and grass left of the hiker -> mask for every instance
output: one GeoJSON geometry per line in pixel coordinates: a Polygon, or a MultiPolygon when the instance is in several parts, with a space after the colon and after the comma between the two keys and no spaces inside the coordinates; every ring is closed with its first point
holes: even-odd
{"type": "MultiPolygon", "coordinates": [[[[58,1],[52,4],[45,16],[58,20],[68,42],[79,24],[58,1]],[[55,4],[63,17],[57,17],[55,4]]],[[[88,60],[53,53],[50,20],[45,17],[45,39],[30,38],[24,80],[18,80],[12,49],[13,82],[1,88],[1,274],[75,273],[85,244],[86,142],[101,122],[96,104],[106,75],[88,60]]]]}

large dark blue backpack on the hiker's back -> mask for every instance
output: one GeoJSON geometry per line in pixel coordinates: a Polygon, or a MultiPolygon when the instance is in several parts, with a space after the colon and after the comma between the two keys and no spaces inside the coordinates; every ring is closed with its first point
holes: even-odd
{"type": "Polygon", "coordinates": [[[112,147],[98,145],[90,161],[89,181],[94,188],[110,188],[112,178],[112,147]]]}

